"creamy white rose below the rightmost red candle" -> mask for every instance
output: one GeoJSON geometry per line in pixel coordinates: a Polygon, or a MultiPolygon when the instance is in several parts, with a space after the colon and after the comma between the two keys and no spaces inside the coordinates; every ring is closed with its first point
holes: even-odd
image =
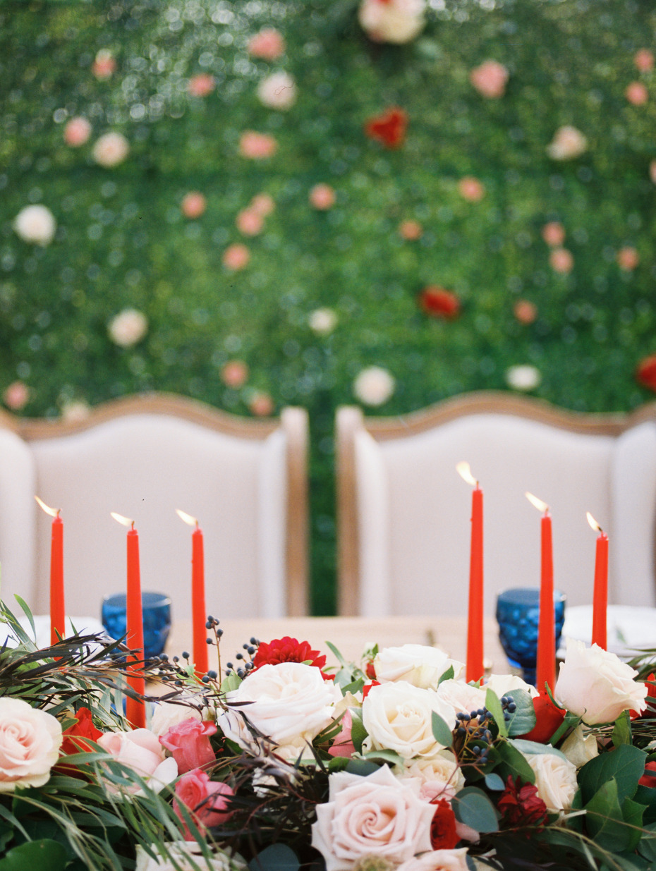
{"type": "Polygon", "coordinates": [[[647,686],[634,680],[637,674],[599,645],[567,638],[554,698],[587,726],[612,723],[623,711],[645,710],[647,686]]]}

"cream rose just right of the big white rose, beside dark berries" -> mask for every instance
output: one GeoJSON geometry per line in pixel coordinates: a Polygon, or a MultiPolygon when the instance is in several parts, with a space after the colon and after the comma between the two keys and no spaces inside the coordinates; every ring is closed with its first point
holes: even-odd
{"type": "Polygon", "coordinates": [[[423,690],[404,680],[373,686],[362,702],[362,723],[368,737],[366,750],[394,750],[403,759],[429,759],[444,749],[433,736],[435,711],[450,728],[456,712],[434,690],[423,690]]]}

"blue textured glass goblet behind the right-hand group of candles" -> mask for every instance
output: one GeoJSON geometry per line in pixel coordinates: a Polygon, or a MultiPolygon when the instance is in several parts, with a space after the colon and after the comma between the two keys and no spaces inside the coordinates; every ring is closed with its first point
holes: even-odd
{"type": "MultiPolygon", "coordinates": [[[[565,623],[565,595],[553,591],[553,611],[556,629],[556,650],[565,623]]],[[[538,587],[516,587],[497,597],[499,640],[509,663],[522,670],[527,684],[535,686],[538,658],[538,625],[540,591],[538,587]]]]}

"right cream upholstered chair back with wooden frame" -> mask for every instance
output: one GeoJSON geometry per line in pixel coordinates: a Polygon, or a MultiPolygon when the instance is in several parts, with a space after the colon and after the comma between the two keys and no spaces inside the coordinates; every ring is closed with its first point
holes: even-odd
{"type": "Polygon", "coordinates": [[[613,604],[656,604],[656,405],[580,415],[507,394],[473,394],[402,418],[337,414],[342,614],[464,614],[470,549],[466,460],[484,490],[485,611],[537,586],[540,515],[551,506],[556,586],[592,601],[595,533],[610,538],[613,604]]]}

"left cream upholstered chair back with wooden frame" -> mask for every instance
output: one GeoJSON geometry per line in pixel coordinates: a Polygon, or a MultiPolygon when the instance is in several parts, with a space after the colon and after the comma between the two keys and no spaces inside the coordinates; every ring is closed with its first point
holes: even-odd
{"type": "Polygon", "coordinates": [[[139,531],[141,584],[166,592],[173,617],[191,613],[191,532],[204,533],[206,604],[221,617],[307,613],[308,422],[226,415],[167,395],[130,397],[80,424],[17,421],[0,429],[2,594],[49,610],[50,518],[61,510],[67,611],[97,616],[125,590],[125,529],[139,531]]]}

